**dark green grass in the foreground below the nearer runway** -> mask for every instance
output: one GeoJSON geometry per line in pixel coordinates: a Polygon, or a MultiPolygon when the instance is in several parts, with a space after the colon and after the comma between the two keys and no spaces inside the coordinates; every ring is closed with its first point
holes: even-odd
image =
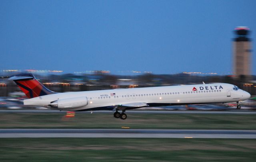
{"type": "Polygon", "coordinates": [[[255,139],[0,139],[1,162],[252,162],[255,139]]]}

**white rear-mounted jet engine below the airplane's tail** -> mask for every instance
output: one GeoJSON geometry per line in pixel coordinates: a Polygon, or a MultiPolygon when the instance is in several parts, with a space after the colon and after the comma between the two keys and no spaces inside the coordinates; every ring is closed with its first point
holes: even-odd
{"type": "Polygon", "coordinates": [[[52,101],[49,106],[59,109],[70,109],[76,107],[82,107],[88,105],[88,100],[86,97],[77,97],[77,98],[67,98],[52,101]]]}

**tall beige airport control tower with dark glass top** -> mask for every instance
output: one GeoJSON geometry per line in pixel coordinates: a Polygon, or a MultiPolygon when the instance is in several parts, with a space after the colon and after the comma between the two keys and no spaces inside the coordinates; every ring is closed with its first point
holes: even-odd
{"type": "Polygon", "coordinates": [[[250,78],[251,74],[251,45],[250,38],[247,36],[250,33],[248,27],[236,27],[236,38],[233,40],[233,72],[237,78],[243,75],[245,78],[250,78]]]}

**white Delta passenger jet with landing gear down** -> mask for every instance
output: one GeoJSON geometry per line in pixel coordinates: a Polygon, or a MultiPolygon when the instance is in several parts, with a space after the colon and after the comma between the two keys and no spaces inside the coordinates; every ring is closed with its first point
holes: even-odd
{"type": "Polygon", "coordinates": [[[60,111],[112,110],[114,117],[126,119],[126,110],[140,107],[190,105],[200,103],[236,102],[250,98],[250,94],[226,83],[162,86],[57,93],[48,90],[33,74],[7,76],[26,94],[24,105],[42,106],[60,111]],[[122,113],[118,112],[122,111],[122,113]]]}

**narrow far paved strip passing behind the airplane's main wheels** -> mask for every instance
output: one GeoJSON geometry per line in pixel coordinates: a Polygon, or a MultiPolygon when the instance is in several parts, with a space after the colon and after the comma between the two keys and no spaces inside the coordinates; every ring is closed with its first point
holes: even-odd
{"type": "MultiPolygon", "coordinates": [[[[57,110],[0,110],[0,113],[63,113],[66,111],[57,110]]],[[[82,113],[114,113],[113,111],[76,111],[76,114],[82,113]]],[[[229,111],[198,111],[198,110],[128,110],[126,113],[154,113],[154,114],[175,114],[175,113],[191,113],[191,114],[256,114],[251,110],[229,110],[229,111]]]]}

